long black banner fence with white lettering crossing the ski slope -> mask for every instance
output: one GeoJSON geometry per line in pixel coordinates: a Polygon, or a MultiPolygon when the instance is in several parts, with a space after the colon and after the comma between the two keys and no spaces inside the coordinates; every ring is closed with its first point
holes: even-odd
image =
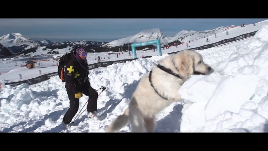
{"type": "MultiPolygon", "coordinates": [[[[237,40],[240,40],[240,39],[244,39],[244,38],[254,36],[256,34],[256,32],[257,31],[247,33],[247,34],[242,34],[242,35],[236,36],[234,38],[224,39],[224,40],[221,40],[219,42],[215,42],[213,44],[203,45],[203,46],[199,46],[199,47],[196,47],[196,48],[191,48],[189,50],[202,50],[202,49],[212,48],[212,47],[215,47],[215,46],[218,46],[218,45],[221,45],[221,44],[226,44],[226,43],[229,43],[229,42],[233,42],[233,41],[237,41],[237,40]]],[[[171,52],[171,53],[168,53],[168,54],[172,54],[172,53],[177,53],[177,52],[171,52]]],[[[148,58],[148,57],[152,57],[152,56],[145,56],[144,58],[148,58]]],[[[136,58],[136,59],[138,59],[138,58],[136,58]]],[[[124,59],[124,60],[116,60],[116,61],[98,62],[98,63],[88,64],[88,69],[92,70],[92,69],[96,69],[96,68],[99,68],[99,67],[107,67],[107,66],[110,66],[111,64],[114,64],[114,63],[125,63],[127,61],[132,61],[132,60],[136,60],[136,59],[124,59]]],[[[45,81],[45,80],[49,80],[50,77],[53,77],[53,76],[56,76],[56,75],[58,76],[58,72],[44,74],[44,75],[41,75],[39,77],[31,78],[31,79],[28,79],[28,80],[5,83],[5,85],[11,85],[12,87],[16,87],[17,85],[20,85],[20,84],[23,84],[23,83],[27,83],[29,85],[32,85],[32,84],[37,84],[37,83],[45,81]]]]}

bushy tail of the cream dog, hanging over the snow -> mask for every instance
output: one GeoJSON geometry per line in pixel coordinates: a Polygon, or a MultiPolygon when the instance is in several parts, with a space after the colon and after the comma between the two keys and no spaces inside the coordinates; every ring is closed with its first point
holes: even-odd
{"type": "Polygon", "coordinates": [[[128,124],[129,121],[129,108],[126,108],[124,114],[118,116],[115,121],[107,128],[106,132],[119,131],[122,127],[128,124]]]}

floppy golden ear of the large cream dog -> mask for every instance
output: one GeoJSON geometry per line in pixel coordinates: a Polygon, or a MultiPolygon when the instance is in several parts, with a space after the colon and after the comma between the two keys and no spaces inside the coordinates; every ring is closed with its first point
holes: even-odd
{"type": "Polygon", "coordinates": [[[182,54],[179,63],[179,71],[183,73],[183,76],[190,76],[194,70],[194,57],[188,54],[182,54]]]}

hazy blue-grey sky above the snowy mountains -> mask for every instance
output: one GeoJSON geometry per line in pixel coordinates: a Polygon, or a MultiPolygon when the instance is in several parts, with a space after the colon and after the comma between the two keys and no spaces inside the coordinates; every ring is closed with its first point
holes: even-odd
{"type": "Polygon", "coordinates": [[[38,41],[111,42],[151,28],[159,28],[172,37],[182,30],[204,31],[263,20],[266,19],[0,19],[0,37],[20,33],[38,41]]]}

